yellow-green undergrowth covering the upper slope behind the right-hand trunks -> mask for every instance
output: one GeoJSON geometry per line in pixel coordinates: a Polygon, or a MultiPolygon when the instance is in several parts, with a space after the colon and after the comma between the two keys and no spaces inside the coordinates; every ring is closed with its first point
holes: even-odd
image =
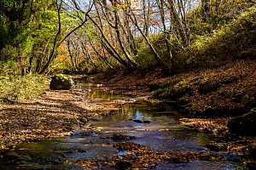
{"type": "MultiPolygon", "coordinates": [[[[247,8],[245,5],[242,10],[241,8],[237,9],[238,12],[232,9],[236,12],[233,11],[234,14],[232,13],[229,19],[227,16],[219,17],[218,20],[209,17],[207,21],[196,20],[195,23],[189,24],[191,38],[188,47],[178,48],[177,39],[172,36],[168,37],[172,42],[174,70],[182,72],[214,68],[224,65],[230,59],[236,60],[244,58],[244,56],[249,56],[252,59],[256,54],[254,49],[256,47],[256,6],[247,8]],[[216,26],[212,26],[212,22],[216,26]],[[195,30],[195,26],[197,26],[197,30],[195,30]]],[[[160,54],[160,58],[165,62],[168,61],[168,50],[163,41],[163,33],[160,32],[149,39],[157,53],[160,54]]],[[[160,67],[145,42],[139,44],[139,51],[135,59],[140,65],[143,65],[143,68],[160,67]]],[[[170,64],[167,65],[172,67],[170,64]]],[[[172,68],[170,70],[173,71],[172,68]]]]}

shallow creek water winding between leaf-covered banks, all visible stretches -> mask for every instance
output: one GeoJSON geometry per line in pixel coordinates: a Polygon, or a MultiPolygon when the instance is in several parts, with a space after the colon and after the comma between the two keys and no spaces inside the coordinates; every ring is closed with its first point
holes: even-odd
{"type": "MultiPolygon", "coordinates": [[[[18,161],[0,162],[0,169],[83,169],[79,165],[68,165],[66,162],[96,157],[111,158],[125,154],[111,146],[116,141],[102,138],[116,133],[133,136],[129,141],[154,150],[209,151],[205,145],[210,144],[214,136],[180,125],[178,120],[182,117],[181,114],[173,111],[169,105],[151,104],[144,99],[102,92],[101,88],[88,82],[77,82],[75,88],[90,91],[90,102],[116,101],[119,103],[119,110],[111,116],[100,117],[100,120],[97,120],[98,117],[90,119],[88,124],[97,128],[78,129],[73,135],[63,139],[20,144],[15,148],[15,152],[20,156],[18,161]]],[[[238,156],[233,156],[238,161],[232,161],[230,156],[224,157],[224,161],[162,163],[156,169],[244,169],[238,156]]]]}

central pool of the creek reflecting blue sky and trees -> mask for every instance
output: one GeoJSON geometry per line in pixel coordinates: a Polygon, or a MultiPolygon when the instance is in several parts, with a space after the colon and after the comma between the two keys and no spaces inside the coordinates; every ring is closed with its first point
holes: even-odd
{"type": "Polygon", "coordinates": [[[209,144],[213,136],[181,126],[178,122],[179,118],[178,113],[171,111],[166,105],[139,102],[121,105],[116,115],[105,116],[102,121],[92,123],[102,127],[105,133],[136,136],[137,138],[132,141],[155,150],[206,151],[203,145],[209,144]],[[134,120],[148,120],[150,123],[134,122],[134,120]]]}

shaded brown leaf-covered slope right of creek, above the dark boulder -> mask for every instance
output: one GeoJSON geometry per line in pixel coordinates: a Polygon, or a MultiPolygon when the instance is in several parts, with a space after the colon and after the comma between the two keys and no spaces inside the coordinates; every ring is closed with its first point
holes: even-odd
{"type": "Polygon", "coordinates": [[[215,69],[173,76],[157,69],[111,77],[98,74],[88,79],[116,88],[113,93],[175,101],[193,117],[238,116],[256,107],[255,59],[240,59],[215,69]]]}

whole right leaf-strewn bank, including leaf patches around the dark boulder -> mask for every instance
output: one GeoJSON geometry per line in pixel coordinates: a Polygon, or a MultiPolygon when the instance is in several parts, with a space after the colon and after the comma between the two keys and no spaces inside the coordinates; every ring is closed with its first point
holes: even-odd
{"type": "MultiPolygon", "coordinates": [[[[160,69],[129,75],[91,75],[88,80],[112,87],[115,94],[130,94],[151,102],[172,101],[188,118],[181,124],[220,137],[215,146],[241,156],[250,156],[255,137],[229,133],[234,116],[256,107],[256,60],[240,59],[215,69],[166,76],[160,69]],[[169,87],[168,84],[172,84],[169,87]],[[163,88],[167,87],[167,88],[163,88]],[[160,93],[158,93],[160,91],[160,93]],[[221,148],[221,147],[220,147],[221,148]]],[[[214,145],[214,144],[213,144],[214,145]]],[[[216,149],[216,148],[215,148],[216,149]]]]}

